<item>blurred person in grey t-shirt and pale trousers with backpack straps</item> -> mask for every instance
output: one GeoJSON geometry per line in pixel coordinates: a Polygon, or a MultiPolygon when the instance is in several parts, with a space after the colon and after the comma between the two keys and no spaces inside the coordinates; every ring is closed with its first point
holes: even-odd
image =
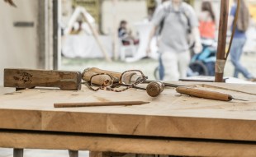
{"type": "Polygon", "coordinates": [[[154,13],[150,41],[159,30],[159,52],[164,65],[164,81],[178,81],[187,76],[190,51],[187,37],[191,31],[195,41],[194,51],[201,52],[198,20],[193,8],[183,0],[168,0],[154,13]]]}

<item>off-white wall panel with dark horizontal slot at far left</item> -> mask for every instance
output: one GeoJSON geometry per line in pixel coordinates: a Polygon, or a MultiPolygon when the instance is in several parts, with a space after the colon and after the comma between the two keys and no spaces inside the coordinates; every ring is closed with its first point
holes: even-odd
{"type": "Polygon", "coordinates": [[[17,8],[0,1],[0,85],[7,67],[37,67],[37,2],[17,0],[17,8]],[[34,27],[14,27],[15,21],[33,21],[34,27]]]}

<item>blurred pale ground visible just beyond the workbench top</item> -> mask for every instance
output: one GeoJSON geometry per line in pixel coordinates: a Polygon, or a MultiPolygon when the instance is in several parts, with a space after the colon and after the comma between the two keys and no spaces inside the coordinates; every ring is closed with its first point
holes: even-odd
{"type": "MultiPolygon", "coordinates": [[[[256,76],[256,53],[249,53],[243,55],[241,58],[244,67],[247,67],[249,72],[256,76]]],[[[153,59],[142,59],[139,62],[106,62],[102,59],[83,59],[83,58],[63,58],[64,70],[76,70],[83,72],[87,67],[99,67],[102,69],[112,70],[116,72],[123,72],[130,69],[140,69],[149,76],[149,79],[154,79],[154,68],[158,66],[158,61],[153,59]]],[[[225,76],[233,76],[234,67],[230,61],[227,62],[225,67],[225,76]]],[[[244,79],[243,76],[239,78],[244,79]]]]}

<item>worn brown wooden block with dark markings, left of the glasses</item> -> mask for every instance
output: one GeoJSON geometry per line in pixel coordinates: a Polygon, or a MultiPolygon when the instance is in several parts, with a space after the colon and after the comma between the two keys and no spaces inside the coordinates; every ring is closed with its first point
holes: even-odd
{"type": "Polygon", "coordinates": [[[4,86],[33,88],[59,87],[61,90],[80,90],[81,72],[31,69],[4,69],[4,86]]]}

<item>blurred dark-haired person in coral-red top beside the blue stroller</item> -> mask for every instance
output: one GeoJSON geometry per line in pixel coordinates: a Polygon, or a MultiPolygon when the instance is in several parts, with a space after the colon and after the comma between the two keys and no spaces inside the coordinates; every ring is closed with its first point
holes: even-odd
{"type": "Polygon", "coordinates": [[[203,1],[201,3],[199,30],[202,39],[215,39],[216,16],[210,1],[203,1]]]}

